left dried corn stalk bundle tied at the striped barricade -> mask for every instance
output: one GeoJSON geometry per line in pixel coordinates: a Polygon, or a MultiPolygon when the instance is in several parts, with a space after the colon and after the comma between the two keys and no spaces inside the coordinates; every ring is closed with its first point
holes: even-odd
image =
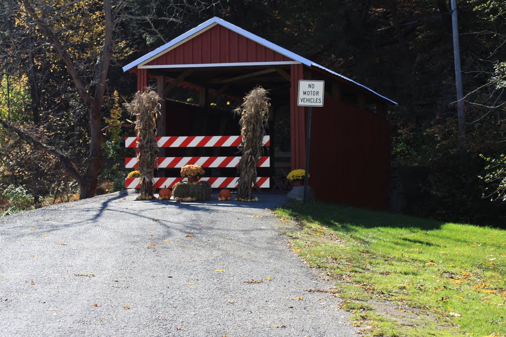
{"type": "Polygon", "coordinates": [[[137,159],[139,162],[139,182],[143,199],[153,198],[153,169],[156,166],[158,146],[156,143],[156,117],[160,114],[160,97],[148,89],[137,91],[131,103],[124,104],[126,110],[136,117],[137,159]]]}

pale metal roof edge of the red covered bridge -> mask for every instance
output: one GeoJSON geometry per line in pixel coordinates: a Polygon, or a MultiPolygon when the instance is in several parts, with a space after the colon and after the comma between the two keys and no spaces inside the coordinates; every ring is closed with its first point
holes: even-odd
{"type": "Polygon", "coordinates": [[[289,50],[284,49],[283,47],[281,47],[281,46],[279,46],[279,45],[277,45],[275,43],[272,43],[271,41],[268,41],[265,38],[262,38],[262,37],[260,37],[258,35],[250,33],[247,30],[244,30],[244,29],[242,29],[240,27],[237,27],[236,25],[233,25],[230,22],[227,22],[227,21],[225,21],[223,19],[220,19],[218,17],[214,17],[212,19],[209,19],[209,20],[201,23],[200,25],[196,26],[193,29],[190,29],[186,33],[184,33],[184,34],[176,37],[175,39],[173,39],[171,41],[168,41],[167,43],[163,44],[162,46],[159,46],[154,51],[152,51],[152,52],[150,52],[150,53],[148,53],[148,54],[140,57],[139,59],[135,60],[134,62],[129,63],[128,65],[126,65],[126,66],[123,67],[123,71],[128,71],[128,70],[130,70],[130,69],[132,69],[132,68],[134,68],[136,66],[139,66],[142,63],[150,60],[151,58],[153,58],[155,56],[157,56],[158,54],[161,54],[163,52],[166,52],[167,50],[173,49],[174,47],[176,47],[180,43],[184,42],[185,40],[190,39],[190,38],[192,38],[192,37],[194,37],[194,36],[202,33],[203,31],[205,31],[205,30],[209,29],[210,27],[213,27],[213,26],[215,26],[217,24],[221,25],[223,27],[226,27],[226,28],[228,28],[228,29],[236,32],[237,34],[240,34],[240,35],[242,35],[242,36],[244,36],[244,37],[246,37],[246,38],[248,38],[248,39],[250,39],[252,41],[260,43],[260,44],[268,47],[269,49],[272,49],[273,51],[275,51],[275,52],[277,52],[279,54],[282,54],[282,55],[284,55],[284,56],[286,56],[286,57],[288,57],[288,58],[290,58],[290,59],[292,59],[294,61],[300,62],[300,63],[304,64],[305,66],[308,66],[310,68],[311,67],[319,68],[320,70],[328,72],[329,74],[337,76],[337,77],[339,77],[339,78],[341,78],[341,79],[343,79],[343,80],[345,80],[347,82],[350,82],[350,83],[353,83],[353,84],[355,84],[355,85],[357,85],[359,87],[362,87],[363,89],[369,91],[370,93],[374,94],[375,96],[377,96],[379,98],[382,98],[382,99],[384,99],[384,100],[386,100],[386,101],[388,101],[388,102],[390,102],[390,103],[392,103],[394,105],[397,105],[396,102],[394,102],[391,99],[389,99],[389,98],[387,98],[387,97],[385,97],[385,96],[377,93],[376,91],[374,91],[374,90],[366,87],[363,84],[360,84],[360,83],[358,83],[358,82],[356,82],[356,81],[354,81],[354,80],[352,80],[352,79],[350,79],[350,78],[348,78],[346,76],[343,76],[343,75],[341,75],[339,73],[336,73],[336,72],[334,72],[334,71],[332,71],[330,69],[327,69],[327,68],[325,68],[325,67],[323,67],[323,66],[321,66],[321,65],[319,65],[319,64],[317,64],[317,63],[315,63],[313,61],[310,61],[310,60],[308,60],[308,59],[306,59],[306,58],[304,58],[304,57],[302,57],[300,55],[297,55],[297,54],[295,54],[293,52],[290,52],[289,50]]]}

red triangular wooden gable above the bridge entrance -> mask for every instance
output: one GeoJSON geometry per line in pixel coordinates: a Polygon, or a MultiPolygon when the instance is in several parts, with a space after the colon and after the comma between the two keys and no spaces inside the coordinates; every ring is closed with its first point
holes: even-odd
{"type": "Polygon", "coordinates": [[[292,60],[228,28],[216,25],[147,65],[278,61],[292,60]]]}

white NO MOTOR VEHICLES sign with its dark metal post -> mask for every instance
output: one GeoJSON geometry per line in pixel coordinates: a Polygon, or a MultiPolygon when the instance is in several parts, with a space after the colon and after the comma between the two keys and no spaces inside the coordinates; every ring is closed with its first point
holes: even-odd
{"type": "Polygon", "coordinates": [[[304,205],[308,203],[309,150],[311,147],[311,121],[313,107],[323,107],[324,81],[299,80],[299,97],[297,105],[309,107],[308,131],[306,132],[306,171],[304,176],[304,205]]]}

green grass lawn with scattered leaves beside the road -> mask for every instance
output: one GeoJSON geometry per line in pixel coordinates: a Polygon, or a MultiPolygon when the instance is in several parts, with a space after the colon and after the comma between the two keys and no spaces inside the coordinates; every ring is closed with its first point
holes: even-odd
{"type": "Polygon", "coordinates": [[[364,334],[506,336],[506,230],[330,204],[276,212],[303,225],[294,251],[336,280],[364,334]]]}

